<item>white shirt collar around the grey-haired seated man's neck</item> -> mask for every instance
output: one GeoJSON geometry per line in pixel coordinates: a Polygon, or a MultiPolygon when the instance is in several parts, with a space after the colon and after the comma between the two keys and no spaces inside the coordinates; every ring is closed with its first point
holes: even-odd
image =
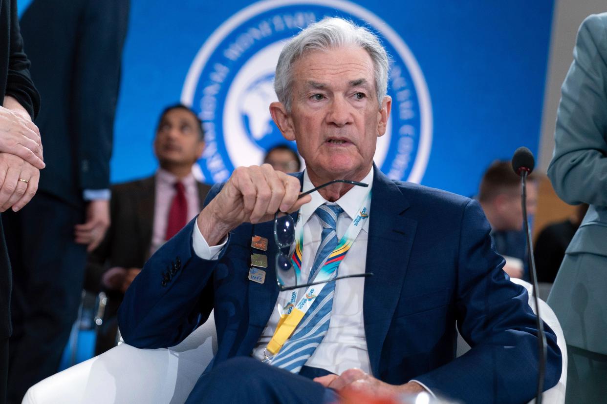
{"type": "MultiPolygon", "coordinates": [[[[361,208],[362,202],[364,201],[365,197],[367,196],[367,194],[371,191],[371,188],[373,187],[373,170],[374,170],[374,168],[371,167],[371,170],[369,171],[367,176],[365,176],[364,179],[362,179],[362,181],[361,181],[361,182],[364,182],[365,184],[369,184],[368,187],[357,187],[356,185],[354,185],[354,187],[350,188],[350,191],[345,193],[344,196],[337,199],[337,201],[335,202],[337,205],[339,205],[339,207],[341,207],[344,210],[344,212],[348,216],[350,216],[350,219],[353,219],[354,217],[356,217],[356,215],[358,214],[358,210],[361,208]]],[[[304,171],[304,187],[302,188],[302,191],[305,192],[305,191],[311,190],[312,188],[314,188],[314,184],[312,184],[312,181],[310,180],[310,176],[308,176],[308,170],[305,170],[304,171]]],[[[307,204],[305,204],[304,206],[302,206],[300,209],[302,224],[305,224],[308,221],[308,219],[310,219],[310,217],[314,214],[314,212],[316,212],[316,209],[320,205],[328,202],[328,200],[326,200],[324,197],[320,196],[318,191],[314,191],[313,193],[310,194],[310,196],[312,197],[312,200],[310,202],[308,202],[307,204]]],[[[368,226],[367,224],[368,224],[368,220],[365,220],[365,226],[363,228],[366,229],[368,226]]]]}

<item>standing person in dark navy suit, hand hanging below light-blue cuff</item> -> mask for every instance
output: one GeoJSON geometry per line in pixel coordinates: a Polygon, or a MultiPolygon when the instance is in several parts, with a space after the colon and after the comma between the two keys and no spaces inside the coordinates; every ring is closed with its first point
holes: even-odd
{"type": "Polygon", "coordinates": [[[126,0],[33,1],[21,19],[46,108],[48,169],[32,203],[2,217],[13,265],[8,402],[56,372],[76,318],[86,250],[109,225],[109,159],[126,0]]]}

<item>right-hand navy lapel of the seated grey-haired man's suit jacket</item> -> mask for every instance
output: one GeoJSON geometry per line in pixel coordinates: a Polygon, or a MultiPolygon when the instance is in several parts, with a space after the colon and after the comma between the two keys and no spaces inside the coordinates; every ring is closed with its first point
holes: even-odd
{"type": "Polygon", "coordinates": [[[367,244],[364,323],[367,349],[374,376],[396,303],[401,296],[417,221],[401,214],[409,208],[401,190],[375,167],[367,244]]]}

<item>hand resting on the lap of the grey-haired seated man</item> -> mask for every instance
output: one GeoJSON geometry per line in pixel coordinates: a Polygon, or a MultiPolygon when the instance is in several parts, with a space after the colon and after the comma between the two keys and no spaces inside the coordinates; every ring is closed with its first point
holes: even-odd
{"type": "Polygon", "coordinates": [[[337,392],[342,390],[353,391],[373,397],[393,398],[400,394],[418,394],[419,392],[426,391],[415,382],[405,383],[404,385],[389,385],[364,373],[358,368],[348,369],[341,376],[329,374],[327,376],[316,377],[314,378],[314,382],[320,383],[326,388],[332,388],[337,392]]]}

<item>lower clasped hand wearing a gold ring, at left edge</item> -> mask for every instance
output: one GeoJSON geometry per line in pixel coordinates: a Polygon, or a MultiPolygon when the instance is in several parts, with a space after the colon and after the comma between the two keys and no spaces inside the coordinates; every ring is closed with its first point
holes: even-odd
{"type": "Polygon", "coordinates": [[[14,154],[0,153],[0,212],[24,207],[36,191],[40,171],[14,154]]]}

